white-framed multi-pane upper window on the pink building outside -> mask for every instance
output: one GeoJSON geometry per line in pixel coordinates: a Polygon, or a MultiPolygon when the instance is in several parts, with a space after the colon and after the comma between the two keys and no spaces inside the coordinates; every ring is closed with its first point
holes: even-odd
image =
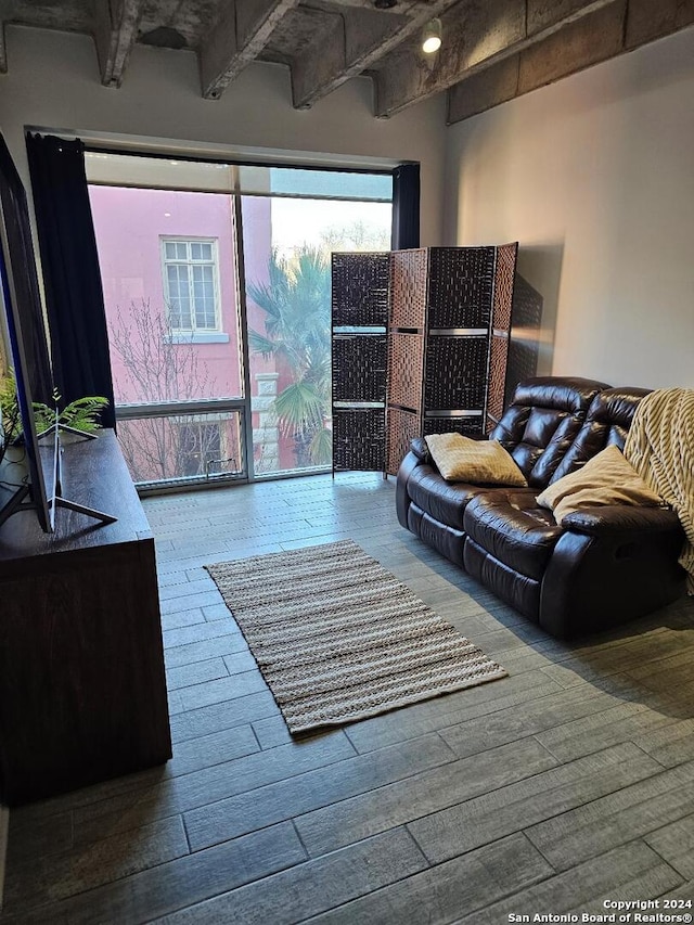
{"type": "Polygon", "coordinates": [[[177,341],[228,339],[220,324],[217,240],[159,240],[171,336],[177,341]]]}

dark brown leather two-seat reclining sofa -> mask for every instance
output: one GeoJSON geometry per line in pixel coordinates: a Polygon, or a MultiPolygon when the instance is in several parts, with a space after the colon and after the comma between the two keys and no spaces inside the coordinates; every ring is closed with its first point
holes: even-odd
{"type": "Polygon", "coordinates": [[[672,511],[583,509],[560,527],[536,500],[606,446],[622,449],[646,394],[584,378],[522,383],[489,436],[512,454],[528,488],[447,483],[416,439],[397,477],[400,524],[558,638],[670,603],[684,591],[684,534],[672,511]]]}

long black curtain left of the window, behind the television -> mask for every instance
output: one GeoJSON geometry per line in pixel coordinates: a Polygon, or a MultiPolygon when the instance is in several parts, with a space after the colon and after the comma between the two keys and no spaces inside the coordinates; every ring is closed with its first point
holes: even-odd
{"type": "Polygon", "coordinates": [[[27,134],[51,356],[61,407],[102,395],[115,427],[106,313],[81,141],[27,134]]]}

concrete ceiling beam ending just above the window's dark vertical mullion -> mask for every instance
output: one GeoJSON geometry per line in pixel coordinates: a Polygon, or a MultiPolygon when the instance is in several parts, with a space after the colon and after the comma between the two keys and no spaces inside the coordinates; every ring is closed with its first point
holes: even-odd
{"type": "Polygon", "coordinates": [[[203,97],[218,100],[268,43],[299,0],[224,0],[222,14],[200,49],[203,97]]]}

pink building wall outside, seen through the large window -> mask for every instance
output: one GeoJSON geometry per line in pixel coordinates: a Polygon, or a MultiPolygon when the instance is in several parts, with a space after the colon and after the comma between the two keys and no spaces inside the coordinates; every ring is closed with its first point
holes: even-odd
{"type": "MultiPolygon", "coordinates": [[[[233,198],[219,193],[98,185],[90,187],[90,198],[117,403],[240,397],[233,198]],[[156,321],[167,318],[163,247],[167,240],[214,241],[217,256],[217,330],[175,334],[174,344],[162,336],[162,321],[156,321]],[[150,321],[143,322],[147,316],[150,321]],[[130,369],[124,350],[130,357],[130,369]],[[159,369],[163,354],[168,374],[159,369]]],[[[243,226],[246,279],[262,283],[268,279],[272,247],[270,200],[244,197],[243,226]]],[[[265,312],[249,300],[247,313],[248,327],[265,333],[265,312]]],[[[275,441],[269,451],[269,467],[292,468],[291,441],[278,438],[268,410],[272,396],[290,378],[286,372],[275,370],[272,359],[257,355],[250,358],[250,373],[256,459],[265,434],[270,444],[275,441]]],[[[268,454],[267,447],[265,452],[268,454]]]]}

